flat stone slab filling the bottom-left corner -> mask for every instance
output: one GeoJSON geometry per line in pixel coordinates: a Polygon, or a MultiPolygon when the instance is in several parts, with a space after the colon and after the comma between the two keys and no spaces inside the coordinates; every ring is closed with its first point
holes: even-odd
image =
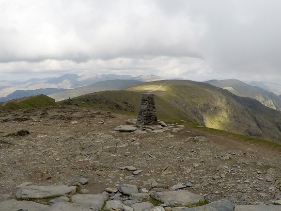
{"type": "Polygon", "coordinates": [[[35,203],[33,201],[17,201],[15,199],[0,202],[0,211],[45,211],[48,207],[48,205],[35,203]]]}

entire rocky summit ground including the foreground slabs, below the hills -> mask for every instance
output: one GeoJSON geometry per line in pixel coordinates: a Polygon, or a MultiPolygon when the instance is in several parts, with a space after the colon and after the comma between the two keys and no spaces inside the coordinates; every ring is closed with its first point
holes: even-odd
{"type": "Polygon", "coordinates": [[[135,122],[80,107],[0,112],[0,211],[281,211],[278,149],[135,122]]]}

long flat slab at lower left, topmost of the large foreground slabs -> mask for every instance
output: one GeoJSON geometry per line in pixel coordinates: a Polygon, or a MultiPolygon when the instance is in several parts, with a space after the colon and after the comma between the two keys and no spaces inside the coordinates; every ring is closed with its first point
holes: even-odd
{"type": "Polygon", "coordinates": [[[50,196],[70,195],[76,192],[76,186],[68,185],[47,185],[47,186],[25,186],[16,192],[16,197],[21,199],[45,198],[50,196]]]}

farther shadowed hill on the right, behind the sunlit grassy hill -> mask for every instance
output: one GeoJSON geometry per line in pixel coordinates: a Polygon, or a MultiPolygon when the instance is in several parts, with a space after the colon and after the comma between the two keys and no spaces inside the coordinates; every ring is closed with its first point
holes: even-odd
{"type": "Polygon", "coordinates": [[[258,86],[251,86],[236,79],[205,81],[211,85],[226,89],[240,97],[257,99],[265,106],[281,111],[281,97],[258,86]]]}

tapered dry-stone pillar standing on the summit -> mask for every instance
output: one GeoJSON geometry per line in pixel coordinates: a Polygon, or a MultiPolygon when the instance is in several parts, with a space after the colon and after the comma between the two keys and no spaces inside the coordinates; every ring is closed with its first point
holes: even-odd
{"type": "Polygon", "coordinates": [[[137,118],[137,126],[158,125],[154,95],[150,93],[142,93],[141,107],[137,118]]]}

